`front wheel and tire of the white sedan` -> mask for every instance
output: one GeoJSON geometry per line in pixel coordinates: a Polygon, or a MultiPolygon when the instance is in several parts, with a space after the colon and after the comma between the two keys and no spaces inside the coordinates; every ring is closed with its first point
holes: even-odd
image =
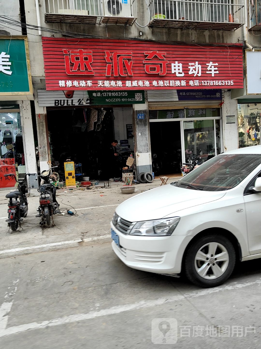
{"type": "Polygon", "coordinates": [[[229,278],[235,263],[235,248],[228,238],[215,234],[203,236],[189,247],[185,255],[185,275],[200,287],[215,287],[229,278]],[[223,260],[216,262],[215,256],[221,253],[223,257],[219,258],[223,260]]]}

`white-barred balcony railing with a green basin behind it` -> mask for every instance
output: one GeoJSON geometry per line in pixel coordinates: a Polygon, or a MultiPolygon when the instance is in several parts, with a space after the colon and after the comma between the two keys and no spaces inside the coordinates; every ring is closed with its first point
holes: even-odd
{"type": "Polygon", "coordinates": [[[150,27],[235,30],[244,24],[244,0],[150,0],[150,27]]]}

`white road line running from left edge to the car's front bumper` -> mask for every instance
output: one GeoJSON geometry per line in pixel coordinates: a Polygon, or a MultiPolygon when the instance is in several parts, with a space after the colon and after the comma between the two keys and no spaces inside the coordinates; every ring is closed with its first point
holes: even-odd
{"type": "Polygon", "coordinates": [[[18,248],[11,248],[10,250],[3,250],[0,251],[0,255],[1,254],[8,254],[8,253],[14,253],[14,252],[26,252],[26,251],[30,251],[30,250],[38,250],[39,248],[49,248],[49,247],[57,247],[57,246],[63,246],[63,245],[73,245],[73,244],[77,244],[79,242],[89,242],[89,241],[96,241],[96,240],[102,240],[102,239],[107,239],[110,238],[111,235],[110,234],[106,234],[106,235],[101,235],[101,236],[93,236],[90,238],[86,238],[86,239],[78,239],[78,240],[70,240],[70,241],[61,241],[61,242],[54,242],[54,243],[50,243],[50,244],[43,244],[43,245],[35,245],[35,246],[27,246],[27,247],[18,247],[18,248]]]}

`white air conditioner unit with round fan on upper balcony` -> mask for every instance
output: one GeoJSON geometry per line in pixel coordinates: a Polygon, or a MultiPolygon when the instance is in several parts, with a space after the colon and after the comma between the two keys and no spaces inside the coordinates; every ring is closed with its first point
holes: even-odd
{"type": "Polygon", "coordinates": [[[103,0],[104,16],[132,17],[131,0],[103,0]]]}

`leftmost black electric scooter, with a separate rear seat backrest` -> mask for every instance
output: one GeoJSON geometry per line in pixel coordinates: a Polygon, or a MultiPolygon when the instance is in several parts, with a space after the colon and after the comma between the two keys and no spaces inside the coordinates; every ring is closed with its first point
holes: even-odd
{"type": "Polygon", "coordinates": [[[18,183],[18,190],[8,193],[6,198],[9,199],[8,202],[8,227],[12,231],[16,231],[18,226],[21,227],[21,221],[27,216],[28,212],[28,202],[26,198],[26,193],[28,193],[26,185],[26,176],[34,176],[35,173],[26,173],[25,178],[16,179],[15,174],[5,174],[5,177],[13,177],[18,183]],[[19,201],[17,200],[19,198],[19,201]]]}

